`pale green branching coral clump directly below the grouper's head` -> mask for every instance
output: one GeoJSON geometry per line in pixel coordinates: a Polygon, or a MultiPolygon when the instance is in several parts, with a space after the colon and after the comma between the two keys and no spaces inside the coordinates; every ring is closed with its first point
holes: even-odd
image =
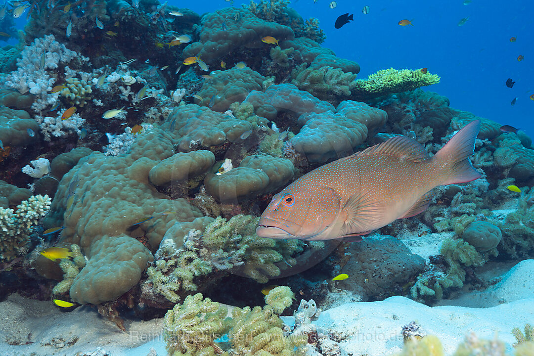
{"type": "MultiPolygon", "coordinates": [[[[231,270],[262,283],[278,276],[280,268],[296,264],[293,256],[303,252],[305,245],[300,240],[258,238],[258,219],[250,215],[230,220],[203,217],[182,224],[190,224],[187,227],[171,228],[147,268],[143,290],[178,303],[180,295],[198,289],[195,278],[214,271],[231,270]],[[178,243],[181,248],[176,247],[178,243]]],[[[321,247],[321,242],[310,243],[310,248],[321,247]]]]}

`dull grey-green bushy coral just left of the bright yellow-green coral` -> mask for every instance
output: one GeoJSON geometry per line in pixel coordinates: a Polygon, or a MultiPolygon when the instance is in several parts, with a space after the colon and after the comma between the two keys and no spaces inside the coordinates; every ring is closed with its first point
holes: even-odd
{"type": "Polygon", "coordinates": [[[300,90],[327,101],[335,99],[335,96],[350,96],[351,89],[356,86],[356,74],[329,66],[312,69],[303,63],[292,71],[291,77],[291,83],[300,90]]]}

